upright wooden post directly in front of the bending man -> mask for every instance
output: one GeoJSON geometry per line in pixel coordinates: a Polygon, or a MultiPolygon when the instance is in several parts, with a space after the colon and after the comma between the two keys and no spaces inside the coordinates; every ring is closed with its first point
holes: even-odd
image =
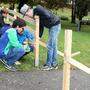
{"type": "Polygon", "coordinates": [[[35,66],[39,65],[39,17],[35,16],[36,31],[35,31],[35,66]]]}

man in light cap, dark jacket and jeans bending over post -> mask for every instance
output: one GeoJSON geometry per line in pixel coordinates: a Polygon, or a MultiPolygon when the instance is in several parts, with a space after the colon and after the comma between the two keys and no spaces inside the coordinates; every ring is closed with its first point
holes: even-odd
{"type": "Polygon", "coordinates": [[[47,60],[46,64],[43,66],[43,70],[51,70],[53,68],[57,68],[57,38],[61,30],[60,18],[41,5],[37,5],[32,9],[30,6],[25,4],[20,9],[20,12],[28,17],[34,17],[35,15],[39,16],[40,38],[43,35],[44,27],[49,29],[49,38],[47,42],[47,60]]]}

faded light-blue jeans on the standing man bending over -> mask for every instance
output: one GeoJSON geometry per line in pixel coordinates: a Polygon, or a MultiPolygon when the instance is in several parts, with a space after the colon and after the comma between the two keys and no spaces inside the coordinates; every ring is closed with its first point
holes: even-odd
{"type": "Polygon", "coordinates": [[[49,29],[49,39],[47,42],[47,62],[49,67],[57,65],[57,38],[61,30],[61,24],[55,25],[49,29]]]}

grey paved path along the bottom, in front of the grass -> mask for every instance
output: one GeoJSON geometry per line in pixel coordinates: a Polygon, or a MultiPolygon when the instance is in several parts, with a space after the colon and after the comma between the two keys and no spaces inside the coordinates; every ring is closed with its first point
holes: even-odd
{"type": "MultiPolygon", "coordinates": [[[[0,72],[0,90],[62,90],[60,70],[0,72]]],[[[70,90],[90,90],[90,75],[73,70],[70,90]]]]}

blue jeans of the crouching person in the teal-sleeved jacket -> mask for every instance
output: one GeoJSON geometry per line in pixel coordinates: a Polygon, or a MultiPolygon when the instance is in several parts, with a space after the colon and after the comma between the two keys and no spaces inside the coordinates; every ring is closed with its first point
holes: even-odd
{"type": "Polygon", "coordinates": [[[8,54],[5,55],[3,59],[7,61],[8,65],[13,65],[25,54],[24,49],[22,48],[12,48],[9,50],[8,54]]]}

